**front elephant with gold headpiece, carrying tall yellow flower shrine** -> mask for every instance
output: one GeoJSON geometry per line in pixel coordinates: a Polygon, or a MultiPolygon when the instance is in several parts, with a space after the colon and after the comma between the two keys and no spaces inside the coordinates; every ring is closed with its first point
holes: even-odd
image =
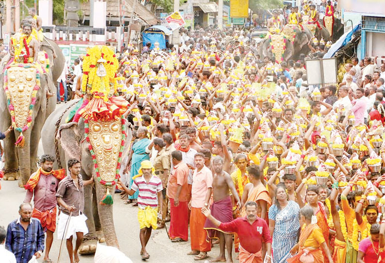
{"type": "Polygon", "coordinates": [[[128,151],[125,145],[132,133],[122,117],[128,101],[114,96],[118,65],[110,47],[89,49],[83,60],[84,98],[58,108],[48,117],[42,131],[45,153],[56,156],[55,168],[66,167],[69,159],[76,158],[81,161],[83,179],[95,181],[95,191],[91,186],[84,187],[89,233],[80,246],[80,254],[95,253],[97,239],[103,235],[108,246],[119,247],[110,193],[114,193],[122,156],[128,151]]]}

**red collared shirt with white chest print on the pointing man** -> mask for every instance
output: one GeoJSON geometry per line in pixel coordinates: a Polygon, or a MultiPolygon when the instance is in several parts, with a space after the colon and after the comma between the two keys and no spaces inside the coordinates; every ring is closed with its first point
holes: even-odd
{"type": "Polygon", "coordinates": [[[228,223],[221,223],[219,228],[226,232],[237,233],[241,246],[249,253],[254,254],[261,250],[262,241],[264,243],[272,243],[269,227],[266,221],[259,217],[257,217],[252,225],[250,225],[247,221],[247,216],[245,216],[238,217],[228,223]]]}

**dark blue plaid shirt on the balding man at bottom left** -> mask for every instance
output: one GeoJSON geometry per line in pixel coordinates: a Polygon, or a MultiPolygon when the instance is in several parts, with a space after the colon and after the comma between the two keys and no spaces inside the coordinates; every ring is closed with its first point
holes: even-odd
{"type": "Polygon", "coordinates": [[[39,219],[31,218],[27,230],[20,218],[8,225],[5,248],[14,253],[17,263],[28,263],[34,253],[44,250],[44,230],[39,219]]]}

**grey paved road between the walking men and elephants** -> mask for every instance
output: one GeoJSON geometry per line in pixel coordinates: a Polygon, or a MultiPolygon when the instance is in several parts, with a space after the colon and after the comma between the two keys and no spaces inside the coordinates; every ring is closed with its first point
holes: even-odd
{"type": "MultiPolygon", "coordinates": [[[[8,223],[18,217],[18,206],[24,200],[25,190],[17,187],[16,181],[1,181],[0,190],[0,226],[7,227],[8,223]]],[[[113,218],[117,232],[119,245],[123,251],[134,263],[142,262],[139,255],[139,224],[137,221],[137,208],[131,205],[123,204],[118,195],[114,197],[113,218]]],[[[169,225],[168,225],[169,227],[169,225]]],[[[60,240],[57,240],[55,233],[54,243],[52,245],[50,258],[56,263],[60,247],[60,240]]],[[[154,230],[151,239],[147,245],[147,251],[150,259],[147,262],[153,263],[193,263],[192,256],[187,256],[190,251],[190,242],[171,243],[166,234],[166,230],[154,230]]],[[[209,252],[210,258],[217,256],[219,247],[216,245],[209,252]]],[[[234,256],[233,256],[234,257],[234,256]]],[[[39,261],[41,262],[41,260],[39,261]]],[[[80,263],[92,263],[92,256],[80,256],[80,263]]],[[[202,261],[201,261],[202,262],[202,261]]],[[[203,261],[205,262],[205,261],[203,261]]],[[[207,263],[208,261],[206,261],[207,263]]],[[[238,262],[238,261],[235,261],[238,262]]],[[[69,263],[67,259],[65,246],[62,251],[60,263],[69,263]]]]}

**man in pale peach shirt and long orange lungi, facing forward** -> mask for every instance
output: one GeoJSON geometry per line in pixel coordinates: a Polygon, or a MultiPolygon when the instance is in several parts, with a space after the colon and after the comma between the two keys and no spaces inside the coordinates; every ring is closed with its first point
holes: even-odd
{"type": "Polygon", "coordinates": [[[191,251],[188,255],[195,255],[194,260],[206,259],[211,244],[206,241],[207,232],[204,230],[206,216],[202,208],[208,208],[212,191],[212,172],[205,166],[205,155],[198,152],[194,156],[196,169],[193,174],[193,187],[191,191],[190,235],[191,251]]]}

